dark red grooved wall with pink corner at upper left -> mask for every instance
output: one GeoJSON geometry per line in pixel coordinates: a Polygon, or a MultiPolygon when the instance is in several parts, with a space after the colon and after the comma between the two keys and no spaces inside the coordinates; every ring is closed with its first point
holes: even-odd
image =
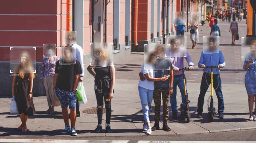
{"type": "Polygon", "coordinates": [[[0,61],[9,61],[9,47],[37,47],[36,61],[43,59],[43,44],[61,45],[66,29],[67,0],[2,0],[0,4],[0,61]],[[62,14],[62,16],[61,16],[62,14]],[[63,33],[63,32],[62,32],[63,33]],[[41,47],[41,48],[40,48],[41,47]]]}

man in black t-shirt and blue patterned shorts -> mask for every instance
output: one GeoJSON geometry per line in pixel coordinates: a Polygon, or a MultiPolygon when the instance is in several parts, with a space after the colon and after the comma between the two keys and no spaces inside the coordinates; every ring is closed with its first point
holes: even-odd
{"type": "Polygon", "coordinates": [[[73,53],[76,51],[70,46],[63,47],[62,50],[64,56],[56,62],[55,75],[53,79],[53,89],[55,94],[61,102],[62,116],[65,123],[65,129],[61,132],[67,134],[71,132],[71,135],[77,135],[76,124],[76,88],[79,82],[79,76],[82,73],[81,65],[73,57],[73,53]],[[69,107],[71,115],[71,130],[68,121],[69,107]]]}

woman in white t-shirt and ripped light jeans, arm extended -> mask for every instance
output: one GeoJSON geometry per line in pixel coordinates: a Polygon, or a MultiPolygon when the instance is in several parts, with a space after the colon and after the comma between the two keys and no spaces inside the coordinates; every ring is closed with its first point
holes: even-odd
{"type": "Polygon", "coordinates": [[[155,53],[151,53],[150,55],[148,55],[148,61],[145,62],[145,64],[143,64],[141,68],[141,72],[139,74],[141,79],[138,85],[140,101],[144,116],[143,131],[147,131],[146,134],[148,135],[150,135],[152,132],[149,115],[151,110],[151,103],[153,100],[154,81],[166,81],[169,78],[167,76],[163,76],[162,78],[155,78],[155,70],[153,70],[155,69],[155,57],[155,53]]]}

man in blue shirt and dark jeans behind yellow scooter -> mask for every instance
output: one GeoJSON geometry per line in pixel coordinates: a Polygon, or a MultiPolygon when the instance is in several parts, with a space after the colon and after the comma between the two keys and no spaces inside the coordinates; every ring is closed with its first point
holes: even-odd
{"type": "MultiPolygon", "coordinates": [[[[209,84],[211,83],[211,70],[210,68],[206,68],[206,66],[218,66],[218,68],[224,68],[226,66],[226,62],[221,50],[218,51],[217,47],[217,38],[215,36],[211,36],[208,39],[209,50],[205,53],[201,53],[200,60],[198,62],[199,68],[204,68],[204,73],[202,76],[201,86],[200,86],[200,94],[198,97],[198,118],[202,118],[203,106],[204,106],[204,96],[209,88],[209,84]]],[[[221,91],[221,77],[220,70],[213,69],[213,88],[215,89],[215,93],[218,98],[218,118],[224,118],[224,100],[221,91]]]]}

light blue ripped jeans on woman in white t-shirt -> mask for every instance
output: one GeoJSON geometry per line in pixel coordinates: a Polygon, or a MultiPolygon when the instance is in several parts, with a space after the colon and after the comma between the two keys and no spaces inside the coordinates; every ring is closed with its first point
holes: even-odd
{"type": "Polygon", "coordinates": [[[143,116],[144,116],[145,123],[150,122],[149,114],[151,109],[151,103],[153,100],[153,91],[154,90],[148,90],[143,87],[139,87],[140,101],[143,109],[143,116]]]}

